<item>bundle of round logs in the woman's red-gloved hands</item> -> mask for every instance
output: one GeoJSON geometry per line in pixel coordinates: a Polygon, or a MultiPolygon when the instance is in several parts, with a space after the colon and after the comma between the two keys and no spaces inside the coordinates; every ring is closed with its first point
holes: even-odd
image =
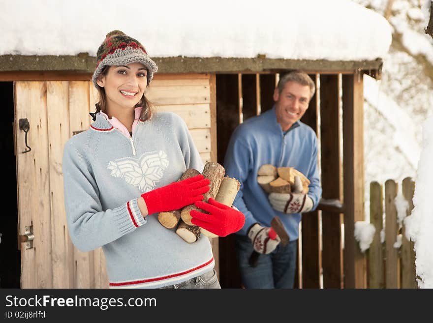
{"type": "MultiPolygon", "coordinates": [[[[199,174],[199,171],[189,168],[179,180],[184,180],[199,174]]],[[[215,162],[207,162],[203,169],[202,175],[205,178],[209,178],[210,180],[210,190],[204,194],[204,201],[207,202],[209,198],[213,198],[217,202],[226,206],[232,206],[236,194],[240,188],[239,181],[236,178],[224,177],[224,167],[215,162]]],[[[191,222],[192,217],[189,212],[192,210],[198,210],[200,212],[206,213],[194,205],[188,205],[182,209],[160,212],[158,214],[158,221],[167,229],[174,229],[177,227],[176,234],[189,243],[197,241],[197,239],[200,237],[200,234],[206,235],[210,238],[216,237],[217,235],[214,235],[203,228],[195,226],[191,222]]]]}

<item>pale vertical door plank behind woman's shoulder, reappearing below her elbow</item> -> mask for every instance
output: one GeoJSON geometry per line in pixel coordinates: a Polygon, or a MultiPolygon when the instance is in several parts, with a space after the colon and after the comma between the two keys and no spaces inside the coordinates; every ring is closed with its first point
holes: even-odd
{"type": "MultiPolygon", "coordinates": [[[[96,89],[95,89],[96,90],[96,89]]],[[[89,116],[90,87],[89,82],[75,81],[69,83],[69,137],[73,131],[86,130],[90,126],[89,116]]],[[[63,143],[64,145],[64,143],[63,143]]],[[[73,251],[74,288],[90,288],[94,285],[93,252],[73,251]]]]}

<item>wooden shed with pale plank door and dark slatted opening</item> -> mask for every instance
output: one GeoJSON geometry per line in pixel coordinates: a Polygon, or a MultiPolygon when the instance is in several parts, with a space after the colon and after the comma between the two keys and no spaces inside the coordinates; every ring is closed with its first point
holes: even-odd
{"type": "MultiPolygon", "coordinates": [[[[303,216],[296,285],[366,287],[365,260],[353,235],[355,221],[364,219],[363,74],[380,77],[382,61],[155,61],[159,72],[148,97],[158,111],[185,119],[204,162],[222,163],[235,127],[272,108],[281,73],[310,74],[317,92],[302,120],[320,139],[323,198],[339,199],[344,206],[323,206],[303,216]]],[[[0,269],[1,287],[107,287],[101,249],[82,253],[71,244],[62,188],[63,145],[91,123],[97,100],[90,82],[94,66],[95,58],[84,54],[0,56],[3,183],[9,201],[0,217],[2,263],[8,264],[0,269]]],[[[223,288],[241,287],[233,242],[231,236],[212,239],[223,288]]]]}

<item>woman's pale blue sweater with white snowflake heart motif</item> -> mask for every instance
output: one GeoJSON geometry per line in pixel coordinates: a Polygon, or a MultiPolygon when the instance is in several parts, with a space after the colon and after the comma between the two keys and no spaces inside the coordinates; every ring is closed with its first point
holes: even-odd
{"type": "Polygon", "coordinates": [[[209,239],[187,243],[143,218],[137,198],[203,163],[183,119],[157,113],[131,139],[100,114],[64,147],[64,200],[69,234],[82,251],[102,246],[112,288],[158,288],[212,270],[209,239]]]}

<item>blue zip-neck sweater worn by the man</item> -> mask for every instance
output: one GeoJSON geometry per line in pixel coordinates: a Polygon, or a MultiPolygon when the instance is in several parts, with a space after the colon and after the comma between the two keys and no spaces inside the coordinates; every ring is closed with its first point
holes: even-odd
{"type": "Polygon", "coordinates": [[[224,168],[226,176],[235,177],[241,183],[233,203],[245,214],[245,225],[238,234],[247,235],[248,228],[255,222],[270,227],[271,220],[278,215],[290,240],[299,237],[301,214],[284,214],[273,209],[268,194],[257,183],[257,171],[265,164],[296,168],[311,181],[308,195],[315,209],[322,194],[317,149],[316,134],[301,121],[295,122],[284,135],[277,122],[275,106],[236,128],[226,151],[224,168]]]}

